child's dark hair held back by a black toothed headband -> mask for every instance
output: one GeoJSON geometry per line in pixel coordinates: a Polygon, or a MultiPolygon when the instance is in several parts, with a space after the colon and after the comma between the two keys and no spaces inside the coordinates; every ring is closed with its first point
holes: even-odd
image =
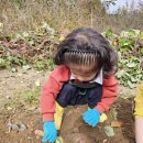
{"type": "Polygon", "coordinates": [[[54,57],[56,65],[95,65],[95,70],[103,69],[109,77],[117,72],[118,55],[109,42],[92,29],[80,28],[69,33],[58,45],[54,57]]]}

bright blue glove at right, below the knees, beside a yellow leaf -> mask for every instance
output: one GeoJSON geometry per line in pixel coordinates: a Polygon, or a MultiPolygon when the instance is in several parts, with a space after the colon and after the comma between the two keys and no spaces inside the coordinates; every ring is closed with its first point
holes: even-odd
{"type": "Polygon", "coordinates": [[[96,109],[90,109],[82,114],[82,119],[86,123],[95,128],[100,120],[100,112],[96,109]]]}

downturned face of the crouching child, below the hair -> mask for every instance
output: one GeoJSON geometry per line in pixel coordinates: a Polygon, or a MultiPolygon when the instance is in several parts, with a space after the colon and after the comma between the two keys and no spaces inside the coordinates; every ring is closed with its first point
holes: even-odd
{"type": "Polygon", "coordinates": [[[70,68],[73,76],[80,81],[90,81],[97,75],[97,72],[92,72],[88,66],[70,65],[68,67],[70,68]]]}

